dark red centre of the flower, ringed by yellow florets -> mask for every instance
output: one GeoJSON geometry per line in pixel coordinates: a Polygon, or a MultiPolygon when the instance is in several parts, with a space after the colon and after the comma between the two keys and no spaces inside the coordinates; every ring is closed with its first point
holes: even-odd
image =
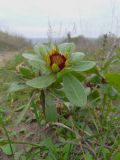
{"type": "Polygon", "coordinates": [[[50,66],[53,64],[57,64],[59,69],[62,70],[65,67],[66,57],[60,54],[58,51],[54,51],[52,55],[50,55],[50,66]]]}

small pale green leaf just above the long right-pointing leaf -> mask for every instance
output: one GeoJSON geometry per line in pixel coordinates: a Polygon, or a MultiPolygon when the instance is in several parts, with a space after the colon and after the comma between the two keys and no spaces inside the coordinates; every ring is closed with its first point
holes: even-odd
{"type": "Polygon", "coordinates": [[[85,54],[82,52],[75,52],[71,54],[71,63],[75,64],[75,63],[79,63],[83,58],[84,58],[85,54]]]}

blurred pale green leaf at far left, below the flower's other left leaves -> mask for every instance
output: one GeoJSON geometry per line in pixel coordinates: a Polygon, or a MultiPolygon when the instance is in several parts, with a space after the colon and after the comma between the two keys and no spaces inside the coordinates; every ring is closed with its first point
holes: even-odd
{"type": "Polygon", "coordinates": [[[17,91],[27,89],[27,88],[28,88],[28,86],[26,84],[21,84],[19,82],[13,82],[10,85],[8,92],[17,92],[17,91]]]}

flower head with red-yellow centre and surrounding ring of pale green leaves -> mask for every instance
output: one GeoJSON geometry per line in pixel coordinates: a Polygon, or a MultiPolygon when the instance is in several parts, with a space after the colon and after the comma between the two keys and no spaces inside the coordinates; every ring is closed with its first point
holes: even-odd
{"type": "Polygon", "coordinates": [[[95,62],[83,61],[84,55],[82,52],[75,52],[73,43],[57,46],[36,45],[33,54],[23,54],[36,75],[28,79],[26,85],[46,89],[52,87],[53,83],[60,83],[66,98],[72,104],[84,106],[87,102],[86,91],[74,73],[76,72],[79,76],[81,72],[95,66],[95,62]]]}

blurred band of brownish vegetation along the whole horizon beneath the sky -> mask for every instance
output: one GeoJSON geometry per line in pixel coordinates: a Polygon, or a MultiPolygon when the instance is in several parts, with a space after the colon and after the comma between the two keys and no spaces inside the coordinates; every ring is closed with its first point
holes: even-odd
{"type": "MultiPolygon", "coordinates": [[[[50,38],[52,41],[57,43],[63,42],[74,42],[76,45],[76,50],[82,51],[84,53],[94,54],[98,52],[98,49],[104,49],[109,51],[111,46],[115,43],[117,46],[120,44],[120,38],[115,34],[109,33],[99,36],[98,38],[87,38],[83,35],[77,37],[71,37],[71,33],[68,32],[65,38],[50,38]]],[[[22,36],[14,35],[8,32],[0,31],[0,51],[20,51],[22,49],[29,49],[32,47],[33,43],[44,42],[46,43],[48,39],[26,39],[22,36]]]]}

